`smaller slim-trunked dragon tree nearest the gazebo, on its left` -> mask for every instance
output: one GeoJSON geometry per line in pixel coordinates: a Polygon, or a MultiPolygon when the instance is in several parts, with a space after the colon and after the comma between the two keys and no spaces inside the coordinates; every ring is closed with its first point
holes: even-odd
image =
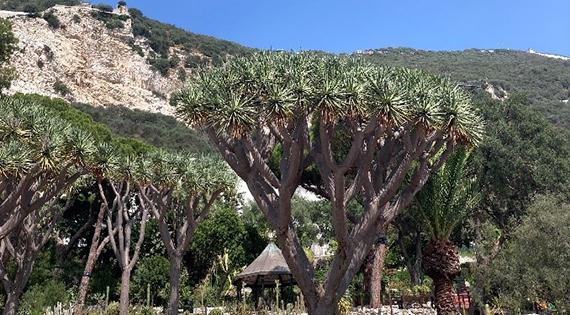
{"type": "Polygon", "coordinates": [[[214,202],[230,192],[235,180],[222,161],[212,157],[153,154],[140,186],[144,202],[158,221],[160,238],[170,262],[170,298],[167,314],[178,314],[182,259],[194,231],[214,202]]]}

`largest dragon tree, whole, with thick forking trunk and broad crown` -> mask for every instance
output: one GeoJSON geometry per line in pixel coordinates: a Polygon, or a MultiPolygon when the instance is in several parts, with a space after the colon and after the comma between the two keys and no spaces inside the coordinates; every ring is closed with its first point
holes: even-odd
{"type": "Polygon", "coordinates": [[[205,70],[178,105],[246,182],[311,315],[335,312],[379,230],[455,146],[477,143],[482,129],[469,97],[440,77],[305,53],[256,54],[205,70]],[[311,124],[318,126],[312,136],[311,124]],[[332,146],[339,129],[352,135],[340,152],[332,146]],[[276,153],[277,171],[269,166],[276,153]],[[329,196],[338,242],[322,286],[291,221],[291,199],[311,163],[329,196]],[[357,196],[364,214],[349,229],[346,205],[357,196]]]}

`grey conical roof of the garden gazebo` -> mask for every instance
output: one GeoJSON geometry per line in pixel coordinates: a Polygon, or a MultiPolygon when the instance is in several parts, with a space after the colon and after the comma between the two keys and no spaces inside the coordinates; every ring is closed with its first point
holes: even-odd
{"type": "Polygon", "coordinates": [[[234,284],[271,287],[275,286],[276,280],[279,280],[281,285],[295,284],[281,250],[274,243],[269,243],[263,252],[235,277],[234,284]]]}

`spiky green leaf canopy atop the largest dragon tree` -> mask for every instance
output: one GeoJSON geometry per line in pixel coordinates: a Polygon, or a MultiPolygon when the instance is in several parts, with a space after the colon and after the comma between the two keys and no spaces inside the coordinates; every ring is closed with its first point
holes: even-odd
{"type": "Polygon", "coordinates": [[[312,114],[331,123],[421,124],[472,144],[483,131],[469,96],[445,78],[352,57],[259,53],[203,70],[181,95],[178,112],[187,122],[233,138],[312,114]]]}

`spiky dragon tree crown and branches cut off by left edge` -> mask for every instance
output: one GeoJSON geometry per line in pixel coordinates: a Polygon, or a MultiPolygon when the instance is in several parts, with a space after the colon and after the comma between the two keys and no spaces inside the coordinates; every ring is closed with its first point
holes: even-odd
{"type": "Polygon", "coordinates": [[[0,240],[87,174],[93,142],[38,104],[0,99],[0,240]]]}

